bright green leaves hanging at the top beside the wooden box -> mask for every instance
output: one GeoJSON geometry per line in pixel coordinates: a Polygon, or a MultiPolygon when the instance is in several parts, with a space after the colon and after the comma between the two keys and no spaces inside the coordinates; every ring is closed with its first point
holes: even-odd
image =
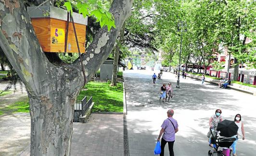
{"type": "Polygon", "coordinates": [[[98,0],[70,0],[64,3],[68,12],[73,13],[72,3],[75,5],[78,13],[82,13],[84,17],[94,16],[97,21],[100,22],[101,27],[107,26],[108,31],[111,27],[115,28],[115,19],[114,16],[106,10],[102,3],[98,0]]]}

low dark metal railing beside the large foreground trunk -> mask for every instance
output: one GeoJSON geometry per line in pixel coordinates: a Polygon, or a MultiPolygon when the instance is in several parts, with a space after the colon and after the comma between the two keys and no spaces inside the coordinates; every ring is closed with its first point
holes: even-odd
{"type": "Polygon", "coordinates": [[[82,100],[76,100],[74,106],[74,122],[79,122],[79,117],[84,116],[87,109],[90,107],[92,103],[92,96],[87,101],[87,96],[85,96],[82,100]]]}

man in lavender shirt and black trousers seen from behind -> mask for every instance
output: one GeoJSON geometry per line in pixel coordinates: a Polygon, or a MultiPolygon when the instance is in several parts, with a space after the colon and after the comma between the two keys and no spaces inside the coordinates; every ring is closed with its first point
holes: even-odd
{"type": "Polygon", "coordinates": [[[169,153],[170,156],[174,156],[174,152],[173,152],[173,144],[175,142],[175,133],[177,133],[179,131],[178,129],[178,122],[177,120],[173,119],[172,116],[174,114],[174,111],[172,109],[169,109],[167,111],[167,119],[164,120],[163,124],[162,124],[162,129],[160,130],[159,136],[157,141],[160,141],[160,138],[162,136],[161,139],[161,154],[160,156],[164,156],[165,154],[165,145],[166,143],[168,143],[168,147],[169,147],[169,153]]]}

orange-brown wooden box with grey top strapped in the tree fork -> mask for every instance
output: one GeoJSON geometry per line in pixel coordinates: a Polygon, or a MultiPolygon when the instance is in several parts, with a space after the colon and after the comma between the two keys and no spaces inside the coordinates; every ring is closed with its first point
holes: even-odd
{"type": "MultiPolygon", "coordinates": [[[[31,18],[38,41],[44,52],[64,52],[67,11],[53,6],[28,7],[27,12],[31,18]]],[[[72,14],[79,48],[85,52],[87,17],[73,12],[72,14]]],[[[71,19],[69,18],[67,52],[78,53],[77,42],[71,19]]]]}

